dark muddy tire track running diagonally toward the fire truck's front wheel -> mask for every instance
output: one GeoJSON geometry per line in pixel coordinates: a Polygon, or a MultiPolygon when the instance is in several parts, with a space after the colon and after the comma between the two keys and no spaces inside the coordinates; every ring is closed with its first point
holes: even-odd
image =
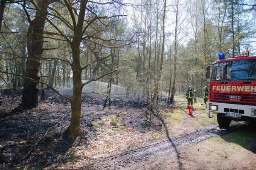
{"type": "Polygon", "coordinates": [[[111,156],[99,161],[95,161],[92,164],[88,164],[83,167],[83,170],[120,170],[132,167],[136,164],[151,161],[152,159],[165,157],[170,153],[177,153],[177,159],[179,159],[179,153],[177,148],[181,146],[196,144],[203,140],[209,139],[214,136],[226,135],[244,126],[243,124],[233,123],[230,125],[230,129],[220,129],[218,125],[209,125],[206,127],[200,127],[197,130],[187,133],[184,136],[179,136],[174,139],[168,139],[165,141],[151,144],[145,147],[140,147],[134,150],[121,153],[119,155],[111,156]]]}

